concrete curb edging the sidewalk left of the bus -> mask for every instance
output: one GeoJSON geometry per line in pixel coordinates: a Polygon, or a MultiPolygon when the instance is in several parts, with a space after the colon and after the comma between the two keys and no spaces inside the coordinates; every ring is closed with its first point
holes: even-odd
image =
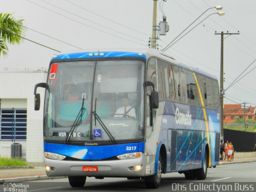
{"type": "Polygon", "coordinates": [[[30,176],[30,177],[6,178],[6,179],[0,179],[0,184],[4,182],[26,182],[26,181],[59,179],[59,178],[66,178],[66,177],[48,177],[47,175],[40,175],[40,176],[30,176]]]}

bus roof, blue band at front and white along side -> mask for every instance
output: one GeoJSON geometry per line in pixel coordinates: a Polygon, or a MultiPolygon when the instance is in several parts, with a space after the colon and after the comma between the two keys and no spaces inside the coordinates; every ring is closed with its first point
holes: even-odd
{"type": "Polygon", "coordinates": [[[204,72],[202,70],[199,70],[198,68],[194,68],[192,66],[188,66],[184,63],[181,63],[175,58],[166,53],[162,52],[160,50],[152,49],[152,48],[112,48],[112,49],[90,49],[90,50],[78,50],[73,52],[62,52],[55,54],[52,58],[52,60],[58,60],[58,59],[76,59],[76,58],[110,58],[110,57],[138,57],[138,58],[144,58],[145,60],[150,58],[151,56],[155,56],[157,58],[160,58],[162,60],[166,60],[168,62],[171,62],[172,64],[175,64],[176,66],[181,66],[182,68],[186,68],[188,70],[194,71],[196,73],[208,76],[210,78],[213,78],[217,80],[216,76],[209,74],[207,72],[204,72]]]}

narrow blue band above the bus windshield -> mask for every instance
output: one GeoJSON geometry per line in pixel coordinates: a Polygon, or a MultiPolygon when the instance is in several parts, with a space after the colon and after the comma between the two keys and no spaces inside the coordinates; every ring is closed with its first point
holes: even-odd
{"type": "Polygon", "coordinates": [[[140,54],[138,52],[79,52],[79,53],[69,53],[69,54],[59,54],[52,59],[76,59],[76,58],[106,58],[106,57],[139,57],[146,59],[145,54],[140,54]],[[100,55],[103,53],[103,55],[100,55]],[[89,56],[89,54],[92,54],[89,56]]]}

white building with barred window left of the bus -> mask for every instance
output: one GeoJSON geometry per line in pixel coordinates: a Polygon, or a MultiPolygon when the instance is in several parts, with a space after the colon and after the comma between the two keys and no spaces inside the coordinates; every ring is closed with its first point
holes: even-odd
{"type": "Polygon", "coordinates": [[[42,70],[0,71],[0,156],[17,156],[21,144],[22,153],[18,153],[23,160],[29,164],[42,163],[45,90],[37,90],[41,108],[35,111],[34,86],[46,82],[46,78],[47,72],[42,70]],[[14,142],[18,143],[16,147],[14,142]]]}

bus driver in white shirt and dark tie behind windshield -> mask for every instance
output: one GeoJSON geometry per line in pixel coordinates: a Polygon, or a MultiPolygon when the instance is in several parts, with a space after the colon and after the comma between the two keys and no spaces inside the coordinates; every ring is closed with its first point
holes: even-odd
{"type": "Polygon", "coordinates": [[[135,109],[132,106],[129,106],[130,100],[128,97],[122,99],[123,107],[120,107],[116,110],[114,117],[127,117],[127,118],[136,118],[135,109]]]}

